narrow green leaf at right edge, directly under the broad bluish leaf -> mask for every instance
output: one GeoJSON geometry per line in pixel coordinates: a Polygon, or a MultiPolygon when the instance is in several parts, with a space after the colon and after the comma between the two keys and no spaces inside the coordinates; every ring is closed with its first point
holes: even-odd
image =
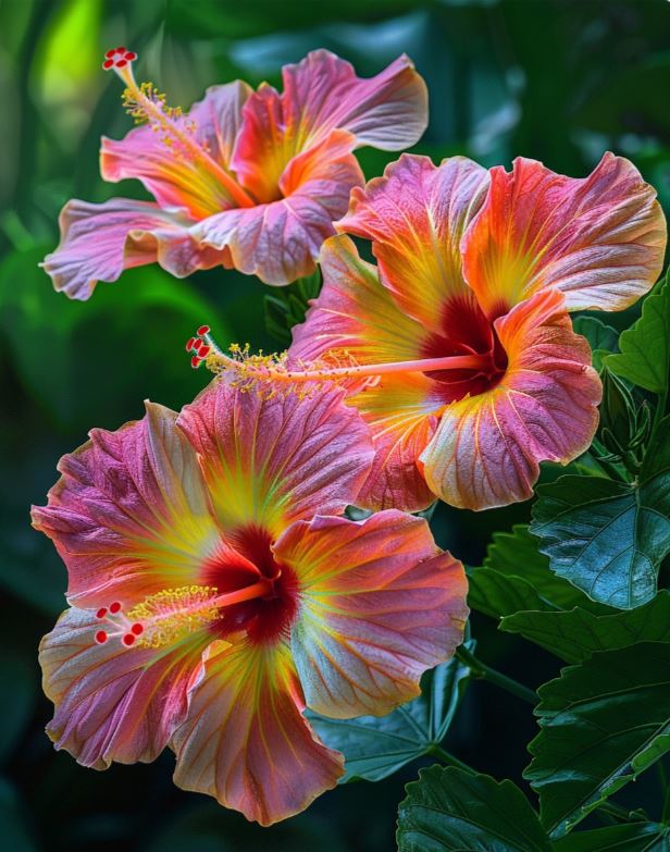
{"type": "Polygon", "coordinates": [[[516,613],[501,620],[500,630],[521,633],[568,663],[582,663],[594,651],[642,641],[670,642],[670,592],[615,615],[596,616],[579,606],[567,613],[516,613]]]}

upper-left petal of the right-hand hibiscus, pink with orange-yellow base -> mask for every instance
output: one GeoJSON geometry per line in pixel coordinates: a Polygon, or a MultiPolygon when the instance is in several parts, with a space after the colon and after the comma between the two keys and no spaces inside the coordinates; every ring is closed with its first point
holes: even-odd
{"type": "Polygon", "coordinates": [[[353,189],[338,231],[372,239],[384,284],[400,308],[445,334],[473,310],[461,272],[460,239],[487,186],[486,170],[464,157],[439,166],[402,155],[383,177],[353,189]]]}

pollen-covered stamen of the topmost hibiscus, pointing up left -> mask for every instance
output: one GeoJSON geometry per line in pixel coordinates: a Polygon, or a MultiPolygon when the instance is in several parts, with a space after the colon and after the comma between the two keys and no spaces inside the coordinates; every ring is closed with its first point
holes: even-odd
{"type": "Polygon", "coordinates": [[[138,122],[149,122],[162,134],[163,141],[175,152],[178,150],[183,156],[200,163],[238,207],[253,207],[253,199],[196,140],[194,122],[189,121],[178,107],[167,107],[165,96],[159,92],[153,84],[137,85],[132,67],[137,53],[121,47],[108,50],[104,57],[102,67],[106,71],[116,72],[126,86],[123,102],[129,114],[138,122]]]}

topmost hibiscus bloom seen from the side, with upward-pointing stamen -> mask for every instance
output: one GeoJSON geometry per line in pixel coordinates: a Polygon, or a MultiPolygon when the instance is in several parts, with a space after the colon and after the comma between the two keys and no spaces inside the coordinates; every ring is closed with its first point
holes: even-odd
{"type": "Polygon", "coordinates": [[[400,150],[427,122],[427,95],[400,57],[370,79],[326,50],[283,69],[284,92],[236,81],[208,89],[187,114],[137,85],[125,48],[106,69],[126,85],[124,102],[142,126],[102,139],[106,181],[141,181],[156,201],[72,200],[61,243],[44,267],[58,291],[87,299],[98,281],[160,263],[177,277],[216,266],[288,284],[314,270],[333,220],[363,176],[351,151],[400,150]]]}

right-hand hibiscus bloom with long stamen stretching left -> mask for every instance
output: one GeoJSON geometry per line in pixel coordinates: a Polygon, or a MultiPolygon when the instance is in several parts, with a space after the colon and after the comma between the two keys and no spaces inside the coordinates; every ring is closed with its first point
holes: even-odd
{"type": "Polygon", "coordinates": [[[353,189],[336,227],[371,239],[379,266],[348,236],[324,244],[323,289],[287,358],[235,363],[208,337],[195,363],[348,385],[375,447],[358,497],[372,509],[504,506],[532,495],[541,461],[588,448],[600,382],[568,311],[628,307],[666,247],[628,160],[608,153],[576,180],[533,160],[508,173],[404,155],[353,189]]]}

